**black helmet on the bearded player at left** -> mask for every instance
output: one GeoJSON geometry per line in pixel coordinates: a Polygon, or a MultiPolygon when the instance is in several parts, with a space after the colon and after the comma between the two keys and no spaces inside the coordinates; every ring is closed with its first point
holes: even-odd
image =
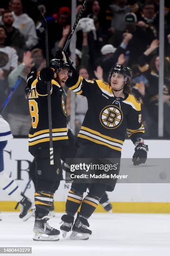
{"type": "Polygon", "coordinates": [[[72,70],[70,69],[69,64],[62,59],[52,59],[50,60],[50,68],[54,69],[54,72],[58,73],[62,69],[68,70],[68,77],[72,76],[72,70]]]}

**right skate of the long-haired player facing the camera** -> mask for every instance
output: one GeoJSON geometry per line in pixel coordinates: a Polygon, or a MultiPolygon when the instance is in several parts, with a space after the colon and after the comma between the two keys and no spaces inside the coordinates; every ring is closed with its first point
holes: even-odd
{"type": "Polygon", "coordinates": [[[89,223],[86,218],[81,215],[77,215],[75,223],[72,227],[72,233],[70,235],[71,240],[88,240],[92,231],[88,229],[89,223]]]}

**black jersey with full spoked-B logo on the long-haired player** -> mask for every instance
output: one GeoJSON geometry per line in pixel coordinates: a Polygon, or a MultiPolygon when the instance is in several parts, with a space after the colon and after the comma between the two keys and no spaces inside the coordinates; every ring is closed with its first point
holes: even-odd
{"type": "Polygon", "coordinates": [[[112,88],[102,80],[85,80],[74,68],[67,87],[87,97],[88,110],[77,135],[77,143],[97,143],[116,151],[122,150],[125,132],[133,143],[143,138],[141,105],[133,95],[115,97],[112,88]]]}

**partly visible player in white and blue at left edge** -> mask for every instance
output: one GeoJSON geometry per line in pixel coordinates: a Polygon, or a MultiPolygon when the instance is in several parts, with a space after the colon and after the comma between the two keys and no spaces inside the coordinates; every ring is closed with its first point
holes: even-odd
{"type": "Polygon", "coordinates": [[[4,171],[3,149],[11,138],[13,138],[13,135],[10,131],[10,125],[0,115],[0,188],[13,200],[20,202],[21,213],[19,217],[22,220],[28,220],[31,215],[28,210],[32,207],[32,202],[23,195],[18,184],[8,177],[4,171]]]}

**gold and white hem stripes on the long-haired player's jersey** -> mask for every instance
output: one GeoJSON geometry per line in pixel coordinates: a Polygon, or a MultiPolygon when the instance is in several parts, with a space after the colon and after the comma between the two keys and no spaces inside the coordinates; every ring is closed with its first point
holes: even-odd
{"type": "Polygon", "coordinates": [[[79,138],[84,138],[94,143],[105,145],[109,148],[115,149],[117,151],[122,150],[123,141],[118,140],[116,138],[112,138],[110,136],[105,136],[97,131],[94,131],[90,128],[82,126],[79,134],[77,135],[79,138]]]}

